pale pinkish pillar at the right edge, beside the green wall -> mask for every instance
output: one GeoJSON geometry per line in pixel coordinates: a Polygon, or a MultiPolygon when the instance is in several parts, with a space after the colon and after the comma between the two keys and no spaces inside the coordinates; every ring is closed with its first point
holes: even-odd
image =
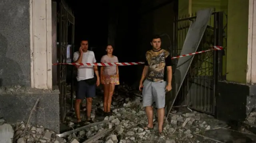
{"type": "Polygon", "coordinates": [[[246,82],[256,83],[256,0],[249,0],[246,82]]]}

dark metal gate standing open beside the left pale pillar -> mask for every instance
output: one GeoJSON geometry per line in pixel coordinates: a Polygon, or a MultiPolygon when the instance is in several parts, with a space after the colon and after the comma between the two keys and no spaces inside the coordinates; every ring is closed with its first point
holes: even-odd
{"type": "MultiPolygon", "coordinates": [[[[65,0],[58,7],[58,62],[66,63],[67,45],[74,45],[74,14],[65,0]],[[71,36],[70,36],[71,35],[71,36]]],[[[58,65],[58,87],[60,90],[60,120],[66,116],[66,65],[58,65]]]]}

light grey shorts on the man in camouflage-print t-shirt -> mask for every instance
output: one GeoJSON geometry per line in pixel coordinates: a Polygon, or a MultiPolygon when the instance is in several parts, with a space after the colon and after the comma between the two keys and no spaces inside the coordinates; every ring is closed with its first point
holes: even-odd
{"type": "Polygon", "coordinates": [[[152,106],[156,102],[156,108],[161,109],[165,106],[166,81],[151,82],[145,80],[142,90],[142,104],[144,107],[152,106]]]}

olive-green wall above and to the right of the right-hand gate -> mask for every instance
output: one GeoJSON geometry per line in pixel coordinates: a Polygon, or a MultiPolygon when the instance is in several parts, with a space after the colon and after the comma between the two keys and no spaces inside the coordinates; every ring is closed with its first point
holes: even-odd
{"type": "MultiPolygon", "coordinates": [[[[192,13],[204,8],[215,8],[216,12],[224,12],[223,25],[227,26],[224,29],[227,37],[223,39],[223,47],[226,48],[223,74],[227,74],[229,81],[246,83],[248,0],[192,0],[192,13]]],[[[179,12],[180,17],[188,14],[188,0],[179,1],[179,12]]],[[[209,25],[213,25],[213,20],[209,25]]],[[[202,63],[202,67],[204,65],[202,63]]]]}

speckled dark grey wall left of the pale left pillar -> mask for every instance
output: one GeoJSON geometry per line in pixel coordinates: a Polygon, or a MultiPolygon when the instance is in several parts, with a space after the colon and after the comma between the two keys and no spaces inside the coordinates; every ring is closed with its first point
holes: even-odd
{"type": "Polygon", "coordinates": [[[0,1],[0,86],[30,86],[29,2],[0,1]]]}

